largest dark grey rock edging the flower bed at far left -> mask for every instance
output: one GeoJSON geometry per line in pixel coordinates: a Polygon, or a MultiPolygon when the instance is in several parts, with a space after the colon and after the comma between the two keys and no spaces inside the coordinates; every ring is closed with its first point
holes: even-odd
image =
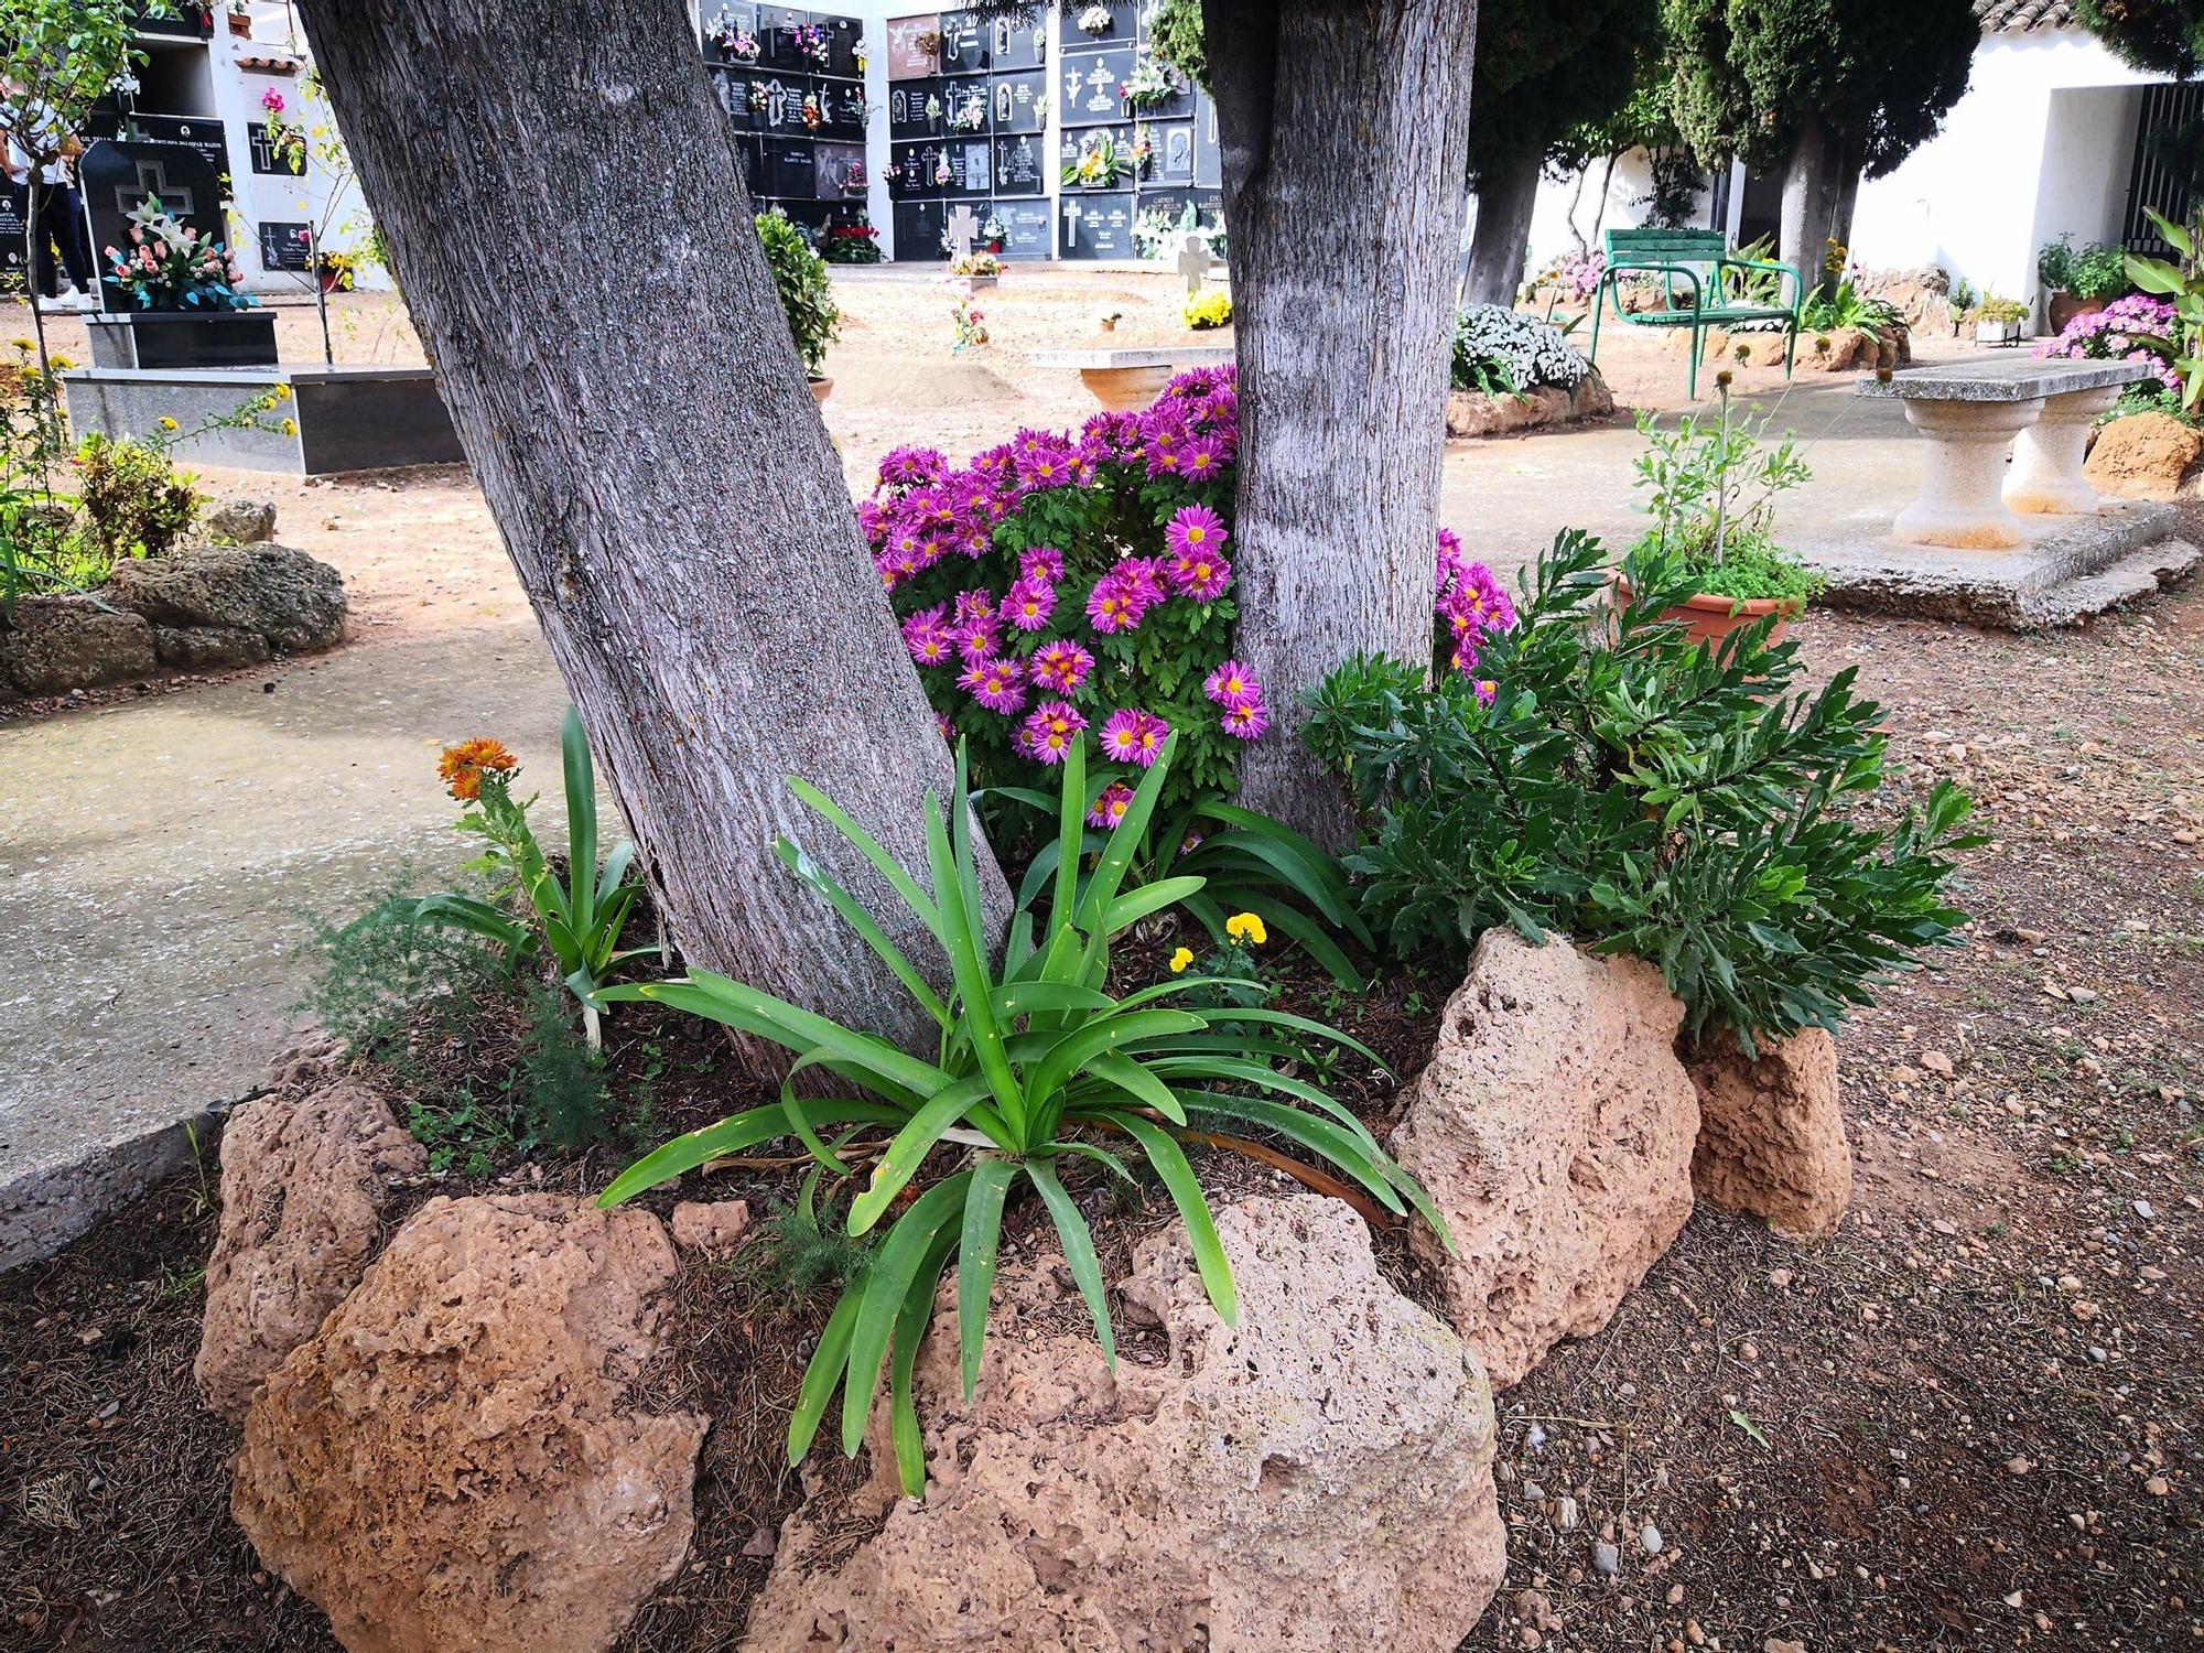
{"type": "Polygon", "coordinates": [[[117,562],[99,595],[154,626],[249,630],[287,655],[344,637],[344,577],[287,544],[201,544],[117,562]]]}

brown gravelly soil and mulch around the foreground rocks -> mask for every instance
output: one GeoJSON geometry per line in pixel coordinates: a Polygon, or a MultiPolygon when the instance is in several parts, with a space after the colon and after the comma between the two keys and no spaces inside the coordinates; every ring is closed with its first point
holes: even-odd
{"type": "MultiPolygon", "coordinates": [[[[1466,1646],[2195,1644],[2204,588],[2036,639],[1843,615],[1798,635],[1816,670],[1862,666],[1904,787],[1981,798],[1970,946],[1843,1038],[1860,1181],[1834,1239],[1701,1210],[1607,1331],[1499,1397],[1510,1578],[1466,1646]]],[[[1393,981],[1358,1031],[1413,1065],[1441,996],[1393,981]]],[[[692,1034],[628,1020],[615,1047],[659,1067],[666,1131],[725,1106],[692,1034]]],[[[602,1186],[617,1157],[549,1175],[602,1186]]],[[[714,1195],[785,1197],[745,1175],[714,1195]]],[[[0,1276],[0,1646],[331,1646],[227,1519],[234,1439],[190,1384],[212,1228],[185,1175],[0,1276]]],[[[699,1541],[624,1640],[668,1653],[734,1638],[771,1565],[827,1307],[743,1263],[681,1292],[659,1389],[714,1419],[699,1541]]]]}

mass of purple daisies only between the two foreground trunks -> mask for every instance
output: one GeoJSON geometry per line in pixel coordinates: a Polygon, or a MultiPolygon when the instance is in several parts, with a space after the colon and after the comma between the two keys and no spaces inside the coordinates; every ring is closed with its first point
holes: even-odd
{"type": "MultiPolygon", "coordinates": [[[[1175,377],[1142,412],[1095,414],[1076,436],[1020,430],[963,467],[932,447],[895,447],[879,463],[873,498],[857,505],[857,527],[882,582],[895,593],[910,657],[921,668],[948,668],[946,677],[954,677],[963,696],[1012,719],[1012,752],[1058,765],[1089,723],[1076,699],[1095,694],[1087,688],[1095,655],[1071,633],[1084,624],[1095,637],[1120,639],[1164,604],[1192,604],[1177,613],[1199,615],[1230,591],[1232,564],[1223,551],[1232,533],[1201,500],[1230,498],[1236,456],[1234,372],[1201,368],[1175,377]],[[1168,487],[1173,480],[1181,487],[1168,487]],[[1153,505],[1157,485],[1166,487],[1162,507],[1153,505]],[[1065,489],[1078,494],[1051,500],[1065,489]],[[1197,498],[1173,511],[1170,491],[1197,498]],[[1122,533],[1117,503],[1131,498],[1139,498],[1142,509],[1173,511],[1164,522],[1164,555],[1142,555],[1115,538],[1122,533]],[[1073,531],[1067,522],[1106,527],[1073,531]],[[998,529],[1007,536],[1001,553],[998,529]],[[1042,538],[1060,544],[1036,542],[1042,538]],[[1012,551],[1016,575],[1005,571],[1012,551]],[[970,575],[948,573],[961,566],[957,558],[985,566],[970,575]],[[943,575],[906,591],[943,564],[943,575]],[[990,584],[990,575],[1003,584],[990,584]]],[[[1117,679],[1124,677],[1124,648],[1113,648],[1120,650],[1111,657],[1117,679]]],[[[1203,663],[1195,663],[1195,674],[1203,663]]],[[[1270,716],[1245,668],[1230,666],[1245,681],[1232,694],[1210,694],[1219,707],[1217,727],[1252,741],[1270,716]]],[[[930,692],[941,710],[946,696],[930,692]]],[[[1150,767],[1170,734],[1168,719],[1139,705],[1093,716],[1102,719],[1104,756],[1120,763],[1150,767]]]]}

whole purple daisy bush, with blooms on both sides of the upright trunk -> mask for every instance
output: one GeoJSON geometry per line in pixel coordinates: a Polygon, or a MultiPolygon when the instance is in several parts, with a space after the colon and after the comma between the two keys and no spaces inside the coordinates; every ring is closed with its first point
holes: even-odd
{"type": "MultiPolygon", "coordinates": [[[[1095,827],[1117,824],[1124,782],[1170,734],[1166,813],[1232,789],[1245,743],[1270,730],[1263,685],[1232,648],[1236,458],[1225,366],[1181,372],[1144,412],[1098,412],[1078,434],[1020,430],[963,465],[932,447],[879,461],[857,527],[943,736],[970,743],[974,787],[1047,787],[1067,741],[1091,730],[1124,765],[1095,827]]],[[[1452,536],[1437,560],[1437,624],[1474,663],[1512,611],[1452,536]]]]}

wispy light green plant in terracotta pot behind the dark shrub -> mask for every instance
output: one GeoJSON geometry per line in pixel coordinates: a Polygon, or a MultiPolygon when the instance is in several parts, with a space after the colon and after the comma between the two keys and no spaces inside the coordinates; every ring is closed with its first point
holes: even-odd
{"type": "MultiPolygon", "coordinates": [[[[1638,456],[1638,487],[1646,491],[1653,518],[1631,560],[1660,571],[1662,586],[1693,588],[1695,595],[1662,611],[1684,626],[1695,644],[1717,646],[1739,626],[1776,615],[1770,641],[1827,584],[1805,562],[1776,542],[1776,498],[1812,478],[1798,443],[1785,432],[1763,441],[1768,421],[1730,412],[1728,372],[1717,379],[1719,408],[1713,419],[1684,414],[1675,430],[1660,430],[1651,412],[1638,414],[1646,439],[1638,456]]],[[[1624,602],[1631,582],[1620,571],[1616,586],[1624,602]]]]}

